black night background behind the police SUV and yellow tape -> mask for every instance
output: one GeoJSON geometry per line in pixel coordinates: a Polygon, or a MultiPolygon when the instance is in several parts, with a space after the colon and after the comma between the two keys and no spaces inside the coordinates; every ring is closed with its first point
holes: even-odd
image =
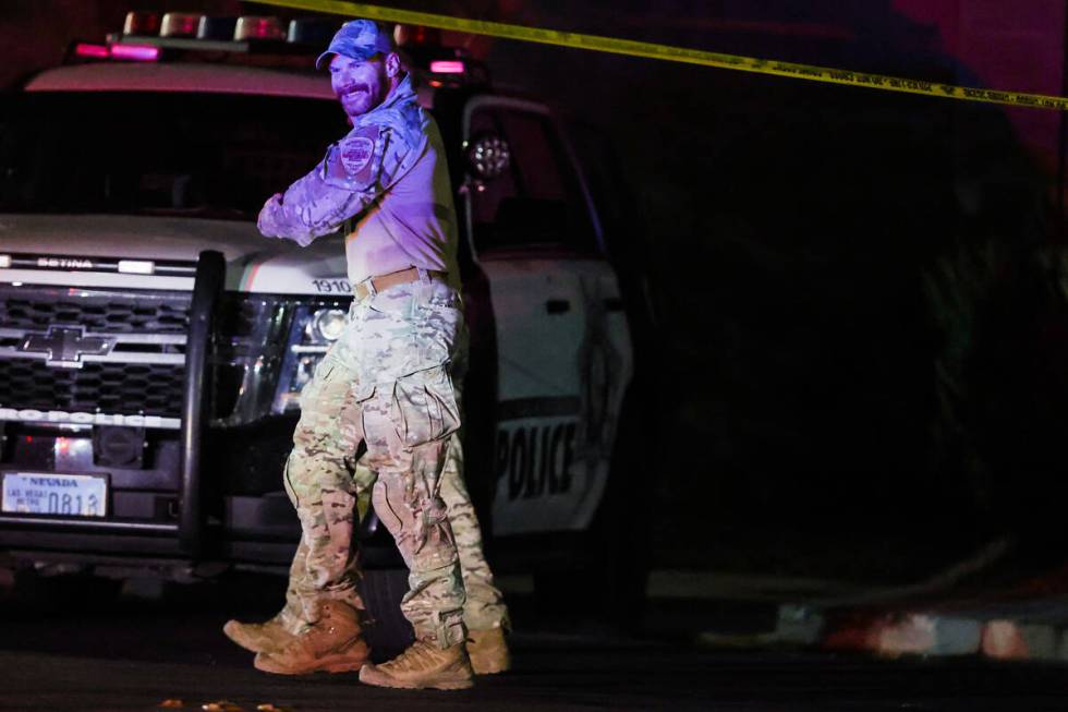
{"type": "MultiPolygon", "coordinates": [[[[390,2],[966,85],[1063,94],[1064,3],[390,2]]],[[[0,82],[137,9],[16,0],[0,82]]],[[[1065,544],[1063,117],[466,38],[590,126],[615,250],[658,327],[660,566],[922,577],[1002,535],[1065,544]],[[604,167],[606,164],[600,162],[604,167]],[[617,184],[622,179],[626,188],[617,184]]],[[[643,511],[653,508],[654,511],[643,511]]],[[[1021,547],[1022,548],[1022,547],[1021,547]]]]}

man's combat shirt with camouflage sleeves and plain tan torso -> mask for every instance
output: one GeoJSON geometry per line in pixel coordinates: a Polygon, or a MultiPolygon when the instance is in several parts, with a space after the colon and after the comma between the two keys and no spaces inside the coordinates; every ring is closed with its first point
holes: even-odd
{"type": "Polygon", "coordinates": [[[409,266],[456,274],[456,212],[441,136],[404,79],[359,117],[341,141],[281,200],[259,213],[259,231],[301,245],[356,227],[345,241],[355,283],[409,266]]]}

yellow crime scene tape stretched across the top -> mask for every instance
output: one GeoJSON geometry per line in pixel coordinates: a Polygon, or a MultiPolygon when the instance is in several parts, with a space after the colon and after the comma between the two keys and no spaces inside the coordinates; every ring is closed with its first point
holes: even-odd
{"type": "Polygon", "coordinates": [[[602,37],[598,35],[581,35],[578,33],[561,32],[558,29],[524,27],[522,25],[509,25],[499,22],[468,20],[464,17],[453,17],[451,15],[438,15],[427,12],[398,10],[395,8],[383,8],[379,5],[347,2],[345,0],[254,1],[260,4],[279,5],[298,10],[311,10],[316,12],[349,15],[352,17],[366,17],[368,20],[400,23],[404,25],[423,25],[426,27],[450,29],[469,33],[472,35],[487,35],[503,39],[518,39],[529,43],[539,43],[543,45],[557,45],[559,47],[588,49],[599,52],[609,52],[612,55],[626,55],[629,57],[662,59],[673,62],[683,62],[687,64],[701,64],[703,67],[715,67],[740,72],[752,72],[755,74],[789,76],[798,80],[808,80],[811,82],[862,86],[870,89],[921,94],[924,96],[945,99],[960,99],[962,101],[1006,104],[1010,106],[1031,107],[1034,109],[1068,109],[1068,98],[1060,96],[1046,96],[1043,94],[1025,94],[1023,92],[999,92],[997,89],[980,89],[967,86],[955,86],[952,84],[939,84],[937,82],[924,82],[898,76],[886,76],[883,74],[850,72],[847,70],[830,69],[827,67],[793,64],[791,62],[756,59],[753,57],[740,57],[738,55],[707,52],[700,49],[656,45],[653,43],[643,43],[633,39],[619,39],[616,37],[602,37]]]}

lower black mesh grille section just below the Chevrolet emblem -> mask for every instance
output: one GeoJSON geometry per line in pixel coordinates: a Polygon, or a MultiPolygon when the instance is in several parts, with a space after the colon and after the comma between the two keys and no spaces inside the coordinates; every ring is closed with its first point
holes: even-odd
{"type": "Polygon", "coordinates": [[[52,369],[39,360],[0,359],[0,406],[179,418],[183,371],[179,365],[99,362],[52,369]]]}

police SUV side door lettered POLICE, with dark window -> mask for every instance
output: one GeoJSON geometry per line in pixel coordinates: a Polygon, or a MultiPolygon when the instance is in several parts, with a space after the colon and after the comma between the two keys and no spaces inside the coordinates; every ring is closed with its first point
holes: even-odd
{"type": "Polygon", "coordinates": [[[500,174],[469,182],[465,210],[497,331],[493,530],[582,530],[604,492],[631,373],[619,287],[571,150],[544,107],[473,99],[464,136],[469,149],[502,141],[495,145],[509,154],[500,174]]]}

